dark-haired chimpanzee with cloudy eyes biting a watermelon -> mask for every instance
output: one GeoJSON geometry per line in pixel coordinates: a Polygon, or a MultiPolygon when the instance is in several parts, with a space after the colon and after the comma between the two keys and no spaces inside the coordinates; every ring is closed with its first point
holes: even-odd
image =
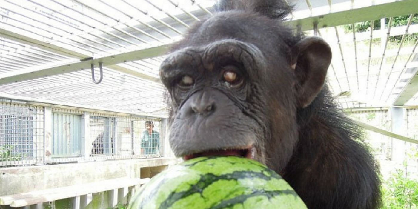
{"type": "Polygon", "coordinates": [[[255,159],[310,209],[377,208],[374,159],[325,84],[328,44],[285,26],[293,8],[284,0],[224,0],[216,8],[161,64],[175,155],[255,159]]]}

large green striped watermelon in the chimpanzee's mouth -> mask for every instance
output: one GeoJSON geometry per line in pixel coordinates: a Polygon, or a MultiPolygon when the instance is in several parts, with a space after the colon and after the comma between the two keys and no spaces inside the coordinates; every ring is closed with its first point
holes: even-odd
{"type": "Polygon", "coordinates": [[[235,156],[193,158],[151,178],[130,209],[306,209],[289,184],[263,164],[235,156]]]}

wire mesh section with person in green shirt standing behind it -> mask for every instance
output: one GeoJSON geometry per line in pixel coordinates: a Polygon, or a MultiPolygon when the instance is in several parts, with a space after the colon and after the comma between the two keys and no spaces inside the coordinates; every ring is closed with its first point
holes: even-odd
{"type": "Polygon", "coordinates": [[[161,156],[162,140],[159,119],[91,116],[90,134],[90,140],[93,140],[91,155],[95,158],[161,156]]]}

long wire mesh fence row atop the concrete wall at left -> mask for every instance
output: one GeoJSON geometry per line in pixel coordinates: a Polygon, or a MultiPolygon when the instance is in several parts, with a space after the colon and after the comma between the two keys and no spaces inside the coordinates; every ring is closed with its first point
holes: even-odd
{"type": "Polygon", "coordinates": [[[160,118],[0,102],[0,167],[157,158],[161,130],[160,118]]]}

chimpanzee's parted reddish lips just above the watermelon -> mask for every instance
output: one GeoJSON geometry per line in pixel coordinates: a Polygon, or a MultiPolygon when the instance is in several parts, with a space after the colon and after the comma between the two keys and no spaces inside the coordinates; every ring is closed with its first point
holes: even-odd
{"type": "Polygon", "coordinates": [[[245,148],[227,148],[222,150],[207,150],[201,153],[193,153],[191,155],[183,156],[183,160],[187,161],[193,158],[205,157],[205,156],[239,156],[243,158],[254,159],[256,149],[253,146],[245,148]]]}

